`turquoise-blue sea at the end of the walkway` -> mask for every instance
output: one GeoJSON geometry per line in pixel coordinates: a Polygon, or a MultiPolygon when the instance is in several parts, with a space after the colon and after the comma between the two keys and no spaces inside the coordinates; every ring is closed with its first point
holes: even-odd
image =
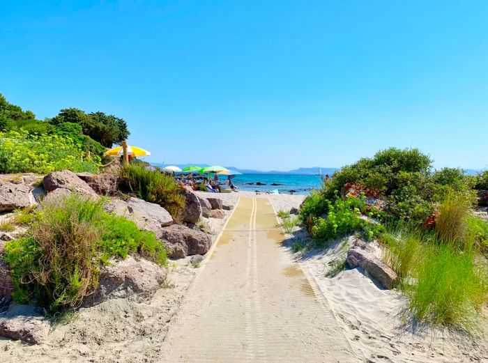
{"type": "MultiPolygon", "coordinates": [[[[227,176],[221,176],[222,180],[226,178],[227,176]]],[[[292,190],[295,191],[293,194],[310,194],[312,189],[319,188],[321,185],[320,176],[293,174],[242,174],[236,175],[232,181],[239,187],[239,190],[252,192],[278,190],[280,193],[286,194],[290,194],[292,190]],[[264,185],[257,185],[257,183],[264,185]]]]}

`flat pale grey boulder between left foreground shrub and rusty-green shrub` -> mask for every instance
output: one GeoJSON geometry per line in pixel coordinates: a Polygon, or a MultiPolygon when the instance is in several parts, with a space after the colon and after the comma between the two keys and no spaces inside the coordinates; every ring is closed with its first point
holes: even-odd
{"type": "Polygon", "coordinates": [[[165,208],[138,198],[132,197],[128,201],[112,199],[104,209],[107,213],[123,215],[145,231],[158,232],[161,227],[173,224],[173,218],[165,208]]]}

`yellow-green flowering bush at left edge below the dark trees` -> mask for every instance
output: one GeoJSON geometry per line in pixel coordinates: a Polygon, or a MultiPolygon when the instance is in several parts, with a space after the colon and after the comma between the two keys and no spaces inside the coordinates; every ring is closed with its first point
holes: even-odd
{"type": "Polygon", "coordinates": [[[0,173],[49,173],[71,171],[98,171],[100,157],[86,160],[83,145],[70,137],[33,135],[20,132],[0,132],[0,173]]]}

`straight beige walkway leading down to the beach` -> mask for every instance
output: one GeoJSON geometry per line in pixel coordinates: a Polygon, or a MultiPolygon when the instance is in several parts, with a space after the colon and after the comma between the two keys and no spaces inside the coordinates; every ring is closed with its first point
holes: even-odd
{"type": "Polygon", "coordinates": [[[268,199],[242,198],[183,301],[167,362],[362,362],[282,247],[268,199]]]}

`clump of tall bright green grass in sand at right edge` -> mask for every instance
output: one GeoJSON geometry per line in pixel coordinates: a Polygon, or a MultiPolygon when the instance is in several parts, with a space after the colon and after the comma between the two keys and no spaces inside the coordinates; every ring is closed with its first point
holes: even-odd
{"type": "Polygon", "coordinates": [[[473,252],[441,243],[425,248],[417,283],[407,291],[413,315],[431,325],[474,330],[487,299],[485,268],[473,263],[473,252]]]}

